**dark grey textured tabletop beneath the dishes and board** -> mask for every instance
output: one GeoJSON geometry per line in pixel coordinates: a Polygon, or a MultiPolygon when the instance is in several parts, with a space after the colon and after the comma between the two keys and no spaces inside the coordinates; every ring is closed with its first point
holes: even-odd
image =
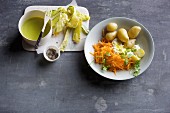
{"type": "Polygon", "coordinates": [[[170,0],[77,0],[90,12],[90,29],[123,16],[151,32],[152,64],[127,81],[99,76],[83,52],[65,52],[48,63],[22,49],[17,24],[27,6],[70,2],[0,0],[0,113],[170,113],[170,0]]]}

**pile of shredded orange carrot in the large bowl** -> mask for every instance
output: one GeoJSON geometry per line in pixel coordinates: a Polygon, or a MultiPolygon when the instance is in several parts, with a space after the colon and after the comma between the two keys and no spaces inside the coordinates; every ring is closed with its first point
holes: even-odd
{"type": "Polygon", "coordinates": [[[94,53],[90,53],[94,56],[94,61],[97,64],[102,64],[108,71],[112,71],[116,74],[117,70],[129,70],[132,62],[125,65],[125,59],[113,50],[111,42],[107,42],[104,39],[93,45],[94,53]]]}

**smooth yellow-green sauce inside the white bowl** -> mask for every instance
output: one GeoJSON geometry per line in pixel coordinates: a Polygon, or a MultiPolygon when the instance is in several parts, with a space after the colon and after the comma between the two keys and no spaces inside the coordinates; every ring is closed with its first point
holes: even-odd
{"type": "MultiPolygon", "coordinates": [[[[24,22],[21,27],[21,32],[29,40],[36,41],[42,30],[44,24],[44,19],[40,17],[33,17],[24,22]]],[[[50,23],[48,22],[43,34],[43,37],[46,36],[50,31],[50,23]]]]}

